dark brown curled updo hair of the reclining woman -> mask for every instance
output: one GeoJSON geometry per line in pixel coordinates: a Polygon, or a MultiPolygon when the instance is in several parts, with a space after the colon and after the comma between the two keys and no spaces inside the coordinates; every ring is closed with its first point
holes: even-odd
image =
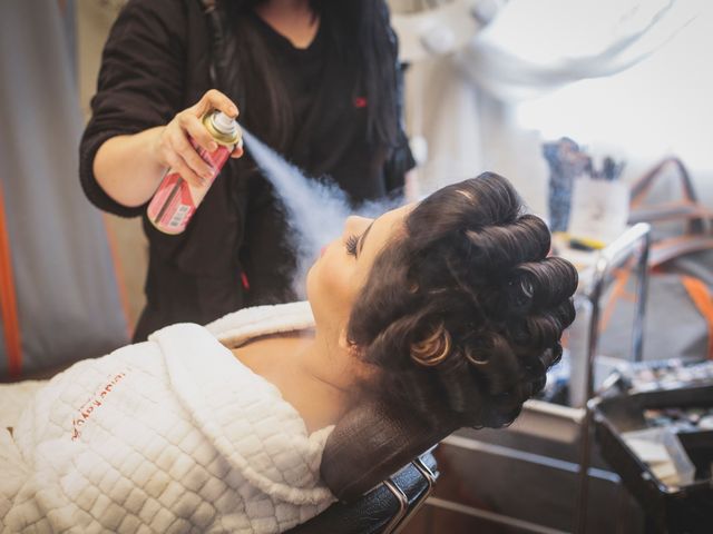
{"type": "Polygon", "coordinates": [[[377,257],[348,336],[372,394],[432,423],[501,427],[545,385],[575,317],[577,271],[502,177],[448,186],[377,257]]]}

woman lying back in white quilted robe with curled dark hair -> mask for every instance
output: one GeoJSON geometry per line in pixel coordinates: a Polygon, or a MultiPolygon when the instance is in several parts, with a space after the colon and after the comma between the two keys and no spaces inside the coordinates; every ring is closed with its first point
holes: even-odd
{"type": "Polygon", "coordinates": [[[548,251],[494,174],[349,218],[309,304],[174,325],[40,389],[0,439],[0,527],[281,532],[333,502],[321,455],[358,403],[509,424],[574,319],[576,271],[548,251]]]}

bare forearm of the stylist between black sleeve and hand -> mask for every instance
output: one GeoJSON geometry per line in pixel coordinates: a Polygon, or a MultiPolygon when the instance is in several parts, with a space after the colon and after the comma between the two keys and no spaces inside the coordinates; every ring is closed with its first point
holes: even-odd
{"type": "Polygon", "coordinates": [[[166,172],[156,149],[163,128],[113,137],[99,147],[94,160],[95,177],[106,194],[120,205],[141,206],[158,188],[166,172]]]}

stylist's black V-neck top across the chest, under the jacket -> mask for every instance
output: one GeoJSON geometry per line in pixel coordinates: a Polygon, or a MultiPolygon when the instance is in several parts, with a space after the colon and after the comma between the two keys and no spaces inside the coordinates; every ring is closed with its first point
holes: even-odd
{"type": "MultiPolygon", "coordinates": [[[[325,26],[307,48],[299,49],[260,17],[250,20],[294,108],[284,156],[310,177],[330,177],[354,202],[383,197],[389,191],[383,176],[388,147],[368,140],[369,102],[325,26]]],[[[252,103],[267,108],[264,99],[252,103]]]]}

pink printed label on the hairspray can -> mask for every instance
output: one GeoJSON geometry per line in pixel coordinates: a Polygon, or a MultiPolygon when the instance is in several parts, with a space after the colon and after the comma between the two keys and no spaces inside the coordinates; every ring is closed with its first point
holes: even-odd
{"type": "Polygon", "coordinates": [[[153,225],[166,234],[180,234],[186,229],[232,151],[231,148],[218,145],[216,150],[209,152],[197,147],[193,139],[191,142],[198,150],[198,155],[213,167],[213,172],[208,184],[193,187],[178,172],[168,169],[147,209],[153,225]]]}

